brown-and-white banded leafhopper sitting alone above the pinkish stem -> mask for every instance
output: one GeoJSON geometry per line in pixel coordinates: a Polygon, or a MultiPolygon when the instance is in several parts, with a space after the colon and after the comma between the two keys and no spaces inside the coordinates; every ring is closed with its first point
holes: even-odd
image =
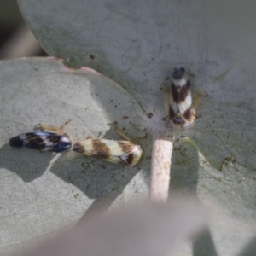
{"type": "Polygon", "coordinates": [[[177,130],[194,125],[195,109],[190,90],[189,75],[183,67],[172,73],[171,96],[168,93],[169,119],[177,130]]]}

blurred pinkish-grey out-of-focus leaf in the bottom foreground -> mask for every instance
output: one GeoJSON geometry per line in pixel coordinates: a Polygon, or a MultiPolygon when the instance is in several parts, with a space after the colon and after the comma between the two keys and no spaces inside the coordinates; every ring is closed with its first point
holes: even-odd
{"type": "Polygon", "coordinates": [[[172,198],[167,204],[141,204],[90,219],[24,255],[176,255],[179,244],[206,223],[198,201],[172,198]]]}

